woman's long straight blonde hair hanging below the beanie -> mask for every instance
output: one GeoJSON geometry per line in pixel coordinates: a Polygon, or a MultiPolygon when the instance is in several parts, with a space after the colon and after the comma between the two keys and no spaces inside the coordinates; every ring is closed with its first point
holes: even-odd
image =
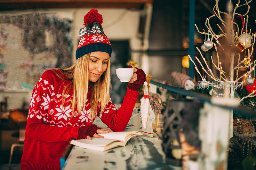
{"type": "Polygon", "coordinates": [[[70,83],[64,86],[62,92],[62,104],[66,100],[66,94],[71,90],[73,85],[73,95],[72,95],[72,113],[73,116],[75,112],[75,107],[80,114],[85,106],[87,100],[87,94],[89,87],[91,88],[91,118],[93,119],[97,115],[97,105],[100,101],[100,114],[104,111],[109,100],[110,91],[110,60],[108,61],[107,70],[100,76],[96,82],[92,82],[89,85],[89,73],[88,73],[88,63],[90,54],[85,54],[84,56],[77,59],[76,63],[71,65],[66,69],[52,69],[56,75],[62,80],[70,81],[70,83]],[[67,78],[63,78],[59,71],[61,70],[67,78]]]}

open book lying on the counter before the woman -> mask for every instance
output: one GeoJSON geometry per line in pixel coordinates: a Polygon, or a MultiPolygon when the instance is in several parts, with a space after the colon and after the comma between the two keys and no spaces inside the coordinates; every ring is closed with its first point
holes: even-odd
{"type": "Polygon", "coordinates": [[[142,135],[137,131],[130,132],[109,132],[99,134],[104,138],[92,137],[92,140],[79,139],[72,140],[70,144],[97,151],[107,151],[117,146],[125,146],[125,144],[134,136],[142,135]]]}

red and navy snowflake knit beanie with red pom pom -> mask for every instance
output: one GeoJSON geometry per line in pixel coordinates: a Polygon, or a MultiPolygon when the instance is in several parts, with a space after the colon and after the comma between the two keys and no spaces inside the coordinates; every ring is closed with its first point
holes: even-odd
{"type": "Polygon", "coordinates": [[[80,29],[76,59],[94,51],[106,52],[111,56],[112,48],[103,32],[102,23],[102,15],[94,8],[84,16],[84,28],[80,29]]]}

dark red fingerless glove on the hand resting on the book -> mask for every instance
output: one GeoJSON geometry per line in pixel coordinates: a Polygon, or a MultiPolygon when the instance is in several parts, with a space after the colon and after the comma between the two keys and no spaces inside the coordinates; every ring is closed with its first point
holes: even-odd
{"type": "Polygon", "coordinates": [[[98,129],[101,128],[98,128],[95,124],[82,126],[78,130],[77,139],[85,139],[87,136],[93,137],[93,135],[97,133],[98,129]]]}

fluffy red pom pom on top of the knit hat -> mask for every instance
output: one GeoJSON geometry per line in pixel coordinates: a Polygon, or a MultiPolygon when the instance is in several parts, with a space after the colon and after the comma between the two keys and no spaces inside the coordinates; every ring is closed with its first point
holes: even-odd
{"type": "Polygon", "coordinates": [[[93,8],[86,15],[84,15],[84,26],[95,21],[101,25],[103,23],[103,18],[102,15],[93,8]]]}

